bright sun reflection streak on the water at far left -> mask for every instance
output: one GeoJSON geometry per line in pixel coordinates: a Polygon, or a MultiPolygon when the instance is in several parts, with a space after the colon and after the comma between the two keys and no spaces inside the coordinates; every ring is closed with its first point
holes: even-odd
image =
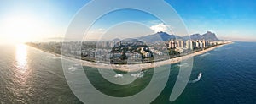
{"type": "Polygon", "coordinates": [[[27,69],[27,53],[26,53],[26,46],[25,45],[17,45],[16,46],[16,62],[17,67],[20,69],[21,72],[25,73],[27,69]]]}

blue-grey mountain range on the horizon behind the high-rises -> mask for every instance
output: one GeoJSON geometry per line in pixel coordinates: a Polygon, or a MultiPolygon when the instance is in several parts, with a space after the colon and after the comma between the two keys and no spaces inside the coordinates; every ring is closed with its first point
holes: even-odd
{"type": "MultiPolygon", "coordinates": [[[[175,40],[175,39],[182,39],[186,40],[207,40],[207,41],[219,41],[218,37],[212,33],[211,31],[207,31],[207,33],[200,35],[200,34],[193,34],[190,36],[176,36],[176,35],[169,35],[166,32],[157,32],[153,35],[148,36],[141,36],[135,38],[126,38],[122,41],[146,41],[146,42],[154,42],[154,41],[168,41],[168,40],[175,40]]],[[[114,39],[119,40],[119,39],[114,39]]]]}

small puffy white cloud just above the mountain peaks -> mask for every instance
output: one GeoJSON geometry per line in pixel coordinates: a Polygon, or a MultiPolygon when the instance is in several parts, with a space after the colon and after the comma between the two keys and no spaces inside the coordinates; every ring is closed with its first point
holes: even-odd
{"type": "Polygon", "coordinates": [[[152,26],[150,27],[150,29],[151,29],[151,30],[154,30],[154,32],[160,32],[160,31],[162,31],[162,32],[168,32],[168,31],[170,31],[170,30],[169,30],[170,28],[171,28],[170,25],[165,25],[164,23],[160,23],[160,24],[158,24],[158,25],[152,25],[152,26]]]}

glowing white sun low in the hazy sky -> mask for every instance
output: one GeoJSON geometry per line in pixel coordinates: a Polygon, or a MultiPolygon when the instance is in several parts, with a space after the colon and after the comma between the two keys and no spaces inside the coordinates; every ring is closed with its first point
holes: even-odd
{"type": "Polygon", "coordinates": [[[14,43],[32,41],[40,28],[38,19],[31,15],[10,16],[3,21],[3,37],[14,43]]]}

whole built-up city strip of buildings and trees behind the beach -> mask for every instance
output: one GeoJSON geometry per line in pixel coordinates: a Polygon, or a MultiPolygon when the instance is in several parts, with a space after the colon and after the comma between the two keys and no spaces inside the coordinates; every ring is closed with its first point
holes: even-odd
{"type": "Polygon", "coordinates": [[[112,59],[121,61],[129,58],[136,62],[141,61],[142,57],[153,57],[153,54],[165,56],[166,50],[183,52],[187,50],[204,49],[223,43],[223,41],[205,40],[170,40],[154,43],[143,43],[141,41],[69,41],[31,43],[31,45],[51,52],[62,52],[62,54],[64,53],[66,56],[78,57],[85,60],[107,62],[112,59]],[[148,44],[151,46],[148,46],[148,44]]]}

